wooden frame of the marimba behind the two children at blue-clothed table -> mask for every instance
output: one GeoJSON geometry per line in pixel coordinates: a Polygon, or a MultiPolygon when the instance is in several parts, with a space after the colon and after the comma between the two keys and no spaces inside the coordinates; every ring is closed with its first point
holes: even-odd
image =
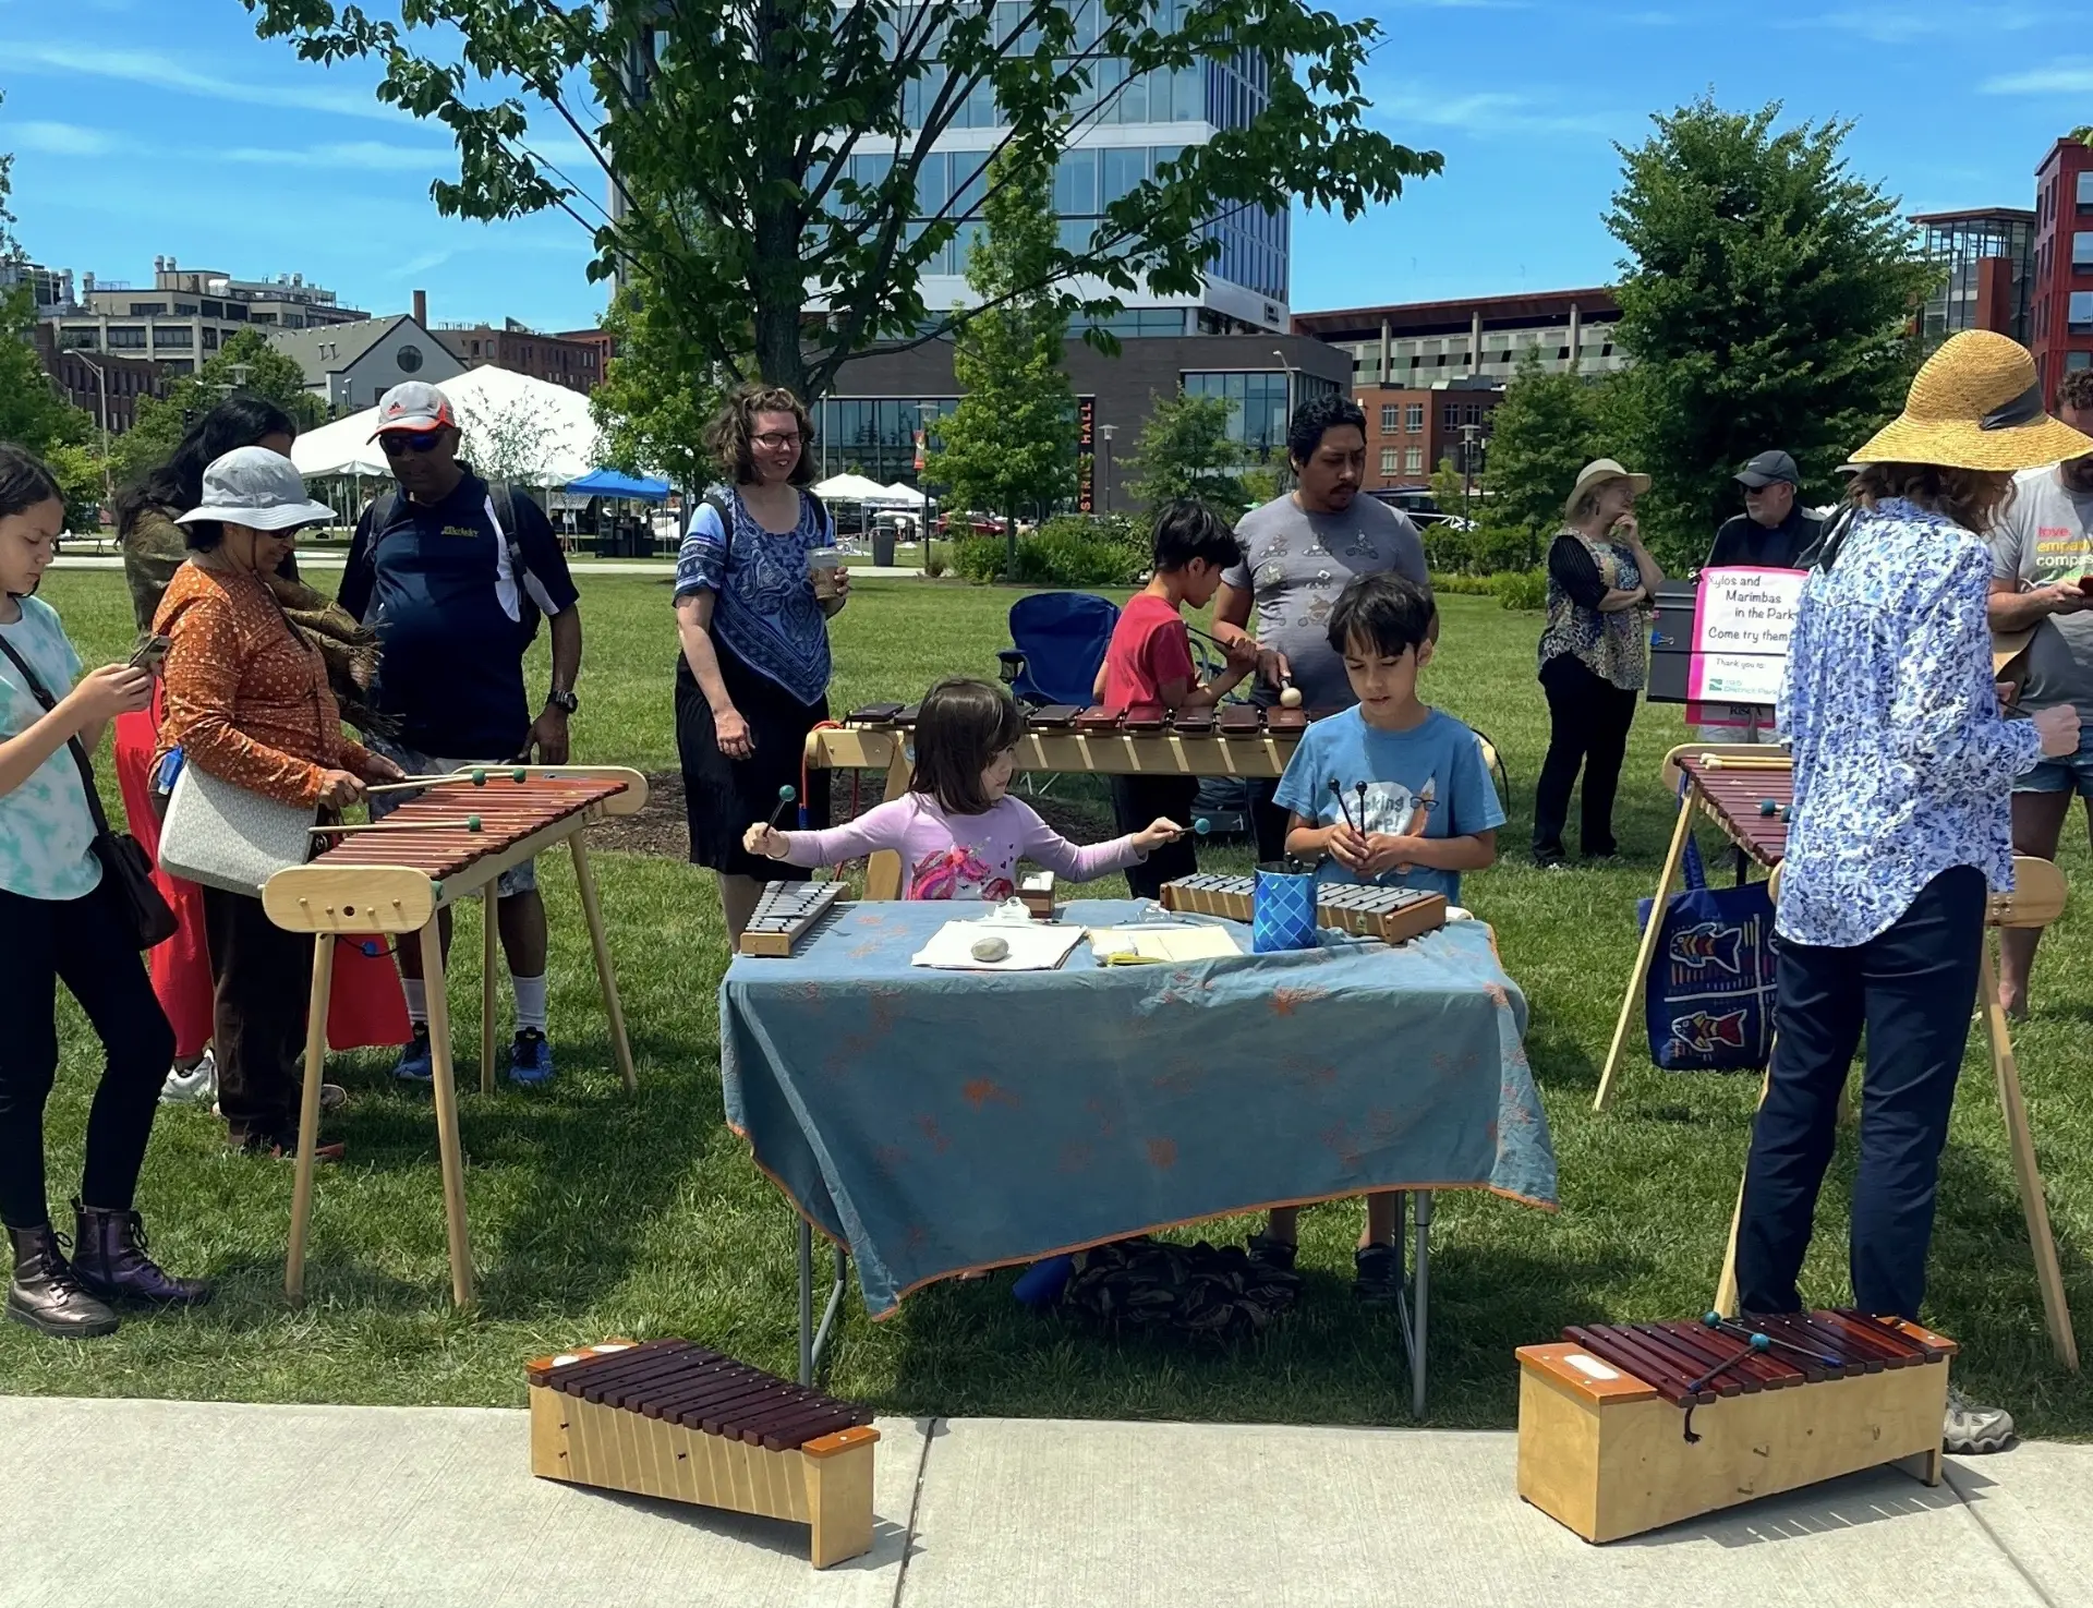
{"type": "MultiPolygon", "coordinates": [[[[1275,710],[1279,714],[1279,710],[1275,710]]],[[[1300,714],[1289,710],[1287,714],[1300,714]]],[[[1300,745],[1300,731],[1212,733],[1030,729],[1017,739],[1019,770],[1084,777],[1239,777],[1277,779],[1300,745]]],[[[806,737],[810,770],[885,770],[883,800],[908,796],[908,743],[896,727],[816,727],[806,737]]],[[[902,896],[902,856],[879,850],[864,869],[867,898],[902,896]]]]}

